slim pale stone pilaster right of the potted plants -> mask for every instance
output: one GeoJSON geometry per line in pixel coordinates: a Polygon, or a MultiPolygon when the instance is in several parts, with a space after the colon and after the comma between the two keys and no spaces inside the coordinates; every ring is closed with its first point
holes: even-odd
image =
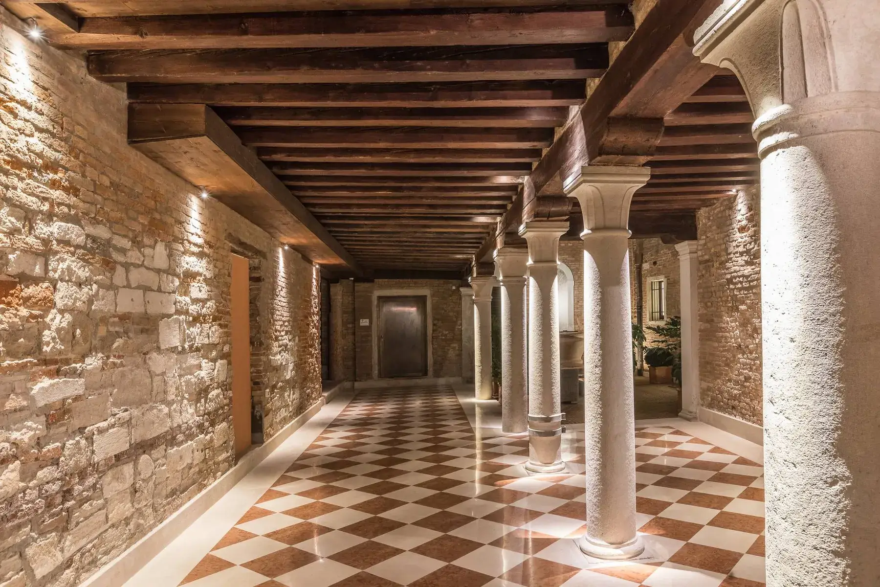
{"type": "Polygon", "coordinates": [[[697,241],[675,246],[681,277],[681,413],[696,420],[700,411],[700,318],[697,307],[697,241]]]}

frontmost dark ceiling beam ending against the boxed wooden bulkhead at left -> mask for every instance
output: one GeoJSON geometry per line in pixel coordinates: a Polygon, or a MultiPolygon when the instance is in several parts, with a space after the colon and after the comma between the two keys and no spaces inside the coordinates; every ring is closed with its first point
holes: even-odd
{"type": "Polygon", "coordinates": [[[217,114],[232,126],[264,127],[501,127],[555,128],[568,108],[225,108],[217,114]]]}

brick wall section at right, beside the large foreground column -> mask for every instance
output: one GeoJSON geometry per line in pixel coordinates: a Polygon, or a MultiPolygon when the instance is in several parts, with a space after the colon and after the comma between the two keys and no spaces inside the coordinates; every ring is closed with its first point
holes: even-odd
{"type": "Polygon", "coordinates": [[[700,403],[761,425],[759,189],[700,210],[700,403]]]}

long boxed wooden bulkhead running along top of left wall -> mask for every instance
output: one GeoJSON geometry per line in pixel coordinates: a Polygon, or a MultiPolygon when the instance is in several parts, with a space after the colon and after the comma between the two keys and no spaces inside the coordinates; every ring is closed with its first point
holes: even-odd
{"type": "Polygon", "coordinates": [[[356,260],[208,106],[129,105],[128,141],[309,259],[360,272],[356,260]]]}

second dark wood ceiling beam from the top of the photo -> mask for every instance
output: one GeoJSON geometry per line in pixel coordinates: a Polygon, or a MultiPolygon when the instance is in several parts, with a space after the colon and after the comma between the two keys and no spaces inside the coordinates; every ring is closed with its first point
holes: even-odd
{"type": "MultiPolygon", "coordinates": [[[[92,77],[158,84],[350,84],[601,77],[601,44],[528,47],[107,51],[92,77]]],[[[326,106],[326,105],[325,105],[326,106]]]]}

